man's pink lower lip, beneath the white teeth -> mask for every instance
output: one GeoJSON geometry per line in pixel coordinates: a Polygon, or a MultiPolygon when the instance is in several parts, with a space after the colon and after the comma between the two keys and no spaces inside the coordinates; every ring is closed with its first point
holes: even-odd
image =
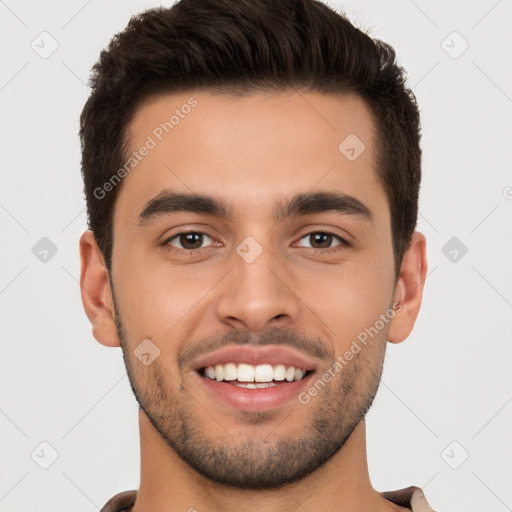
{"type": "Polygon", "coordinates": [[[297,381],[284,381],[269,388],[247,389],[223,381],[212,380],[194,372],[201,385],[222,402],[245,411],[264,411],[273,409],[296,399],[303,388],[309,385],[314,372],[297,381]]]}

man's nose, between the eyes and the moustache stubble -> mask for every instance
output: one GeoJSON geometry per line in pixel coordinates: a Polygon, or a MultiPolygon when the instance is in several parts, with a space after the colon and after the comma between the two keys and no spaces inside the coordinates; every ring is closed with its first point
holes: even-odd
{"type": "Polygon", "coordinates": [[[246,253],[242,247],[233,254],[233,267],[219,287],[216,306],[221,322],[254,332],[293,323],[300,310],[292,268],[261,246],[261,254],[253,260],[257,247],[249,243],[246,253]]]}

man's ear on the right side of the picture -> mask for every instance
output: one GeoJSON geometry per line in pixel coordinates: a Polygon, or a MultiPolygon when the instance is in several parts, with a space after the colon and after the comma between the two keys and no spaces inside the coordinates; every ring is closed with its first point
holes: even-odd
{"type": "Polygon", "coordinates": [[[400,278],[396,284],[394,302],[400,306],[389,322],[388,341],[400,343],[411,334],[420,311],[423,286],[427,276],[427,241],[415,231],[411,243],[404,253],[400,267],[400,278]]]}

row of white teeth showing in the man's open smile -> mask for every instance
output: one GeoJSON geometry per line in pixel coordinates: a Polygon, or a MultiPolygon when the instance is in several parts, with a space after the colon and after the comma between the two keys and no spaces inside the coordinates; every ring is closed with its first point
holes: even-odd
{"type": "MultiPolygon", "coordinates": [[[[306,370],[302,368],[295,368],[295,366],[286,367],[284,364],[277,364],[275,366],[271,364],[260,364],[252,366],[246,363],[235,363],[216,364],[215,366],[208,366],[204,370],[204,376],[212,380],[218,381],[234,381],[244,383],[258,383],[256,387],[269,387],[272,381],[283,381],[288,382],[301,380],[304,378],[306,370]],[[261,384],[261,386],[259,385],[261,384]]],[[[235,383],[233,383],[235,384],[235,383]]],[[[238,386],[238,384],[235,384],[238,386]]],[[[256,387],[248,386],[244,384],[240,387],[249,387],[249,389],[256,389],[256,387]]]]}

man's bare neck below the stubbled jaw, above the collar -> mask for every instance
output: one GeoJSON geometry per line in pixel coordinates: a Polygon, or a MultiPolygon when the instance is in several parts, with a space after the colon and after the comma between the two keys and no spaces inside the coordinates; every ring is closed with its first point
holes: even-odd
{"type": "Polygon", "coordinates": [[[278,489],[225,487],[190,468],[139,411],[141,482],[133,512],[210,510],[214,512],[375,512],[405,510],[385,500],[370,483],[364,420],[320,468],[278,489]]]}

